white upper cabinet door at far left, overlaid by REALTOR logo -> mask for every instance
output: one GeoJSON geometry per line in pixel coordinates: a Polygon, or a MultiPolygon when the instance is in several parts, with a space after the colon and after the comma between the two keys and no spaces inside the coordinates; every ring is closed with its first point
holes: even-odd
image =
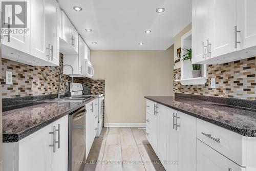
{"type": "MultiPolygon", "coordinates": [[[[8,2],[8,1],[6,1],[8,2]]],[[[30,29],[30,0],[21,0],[19,2],[27,2],[27,18],[22,18],[22,20],[20,20],[19,22],[20,23],[23,23],[23,21],[26,20],[26,23],[27,23],[27,27],[26,28],[11,28],[11,29],[30,29]]],[[[6,11],[6,15],[5,15],[5,18],[4,19],[4,23],[6,23],[6,28],[2,28],[4,30],[7,30],[8,32],[8,17],[10,17],[10,23],[12,24],[12,13],[9,12],[9,11],[12,11],[12,8],[13,6],[12,5],[6,5],[5,6],[5,11],[6,11]]],[[[25,10],[25,9],[22,9],[22,10],[25,10]]],[[[20,17],[20,16],[19,16],[20,17]]],[[[25,16],[23,16],[25,17],[25,16]]],[[[20,24],[18,23],[18,24],[20,24]]],[[[3,34],[3,39],[2,39],[2,44],[3,45],[6,45],[10,48],[13,48],[13,49],[16,49],[18,51],[21,51],[21,52],[24,52],[24,53],[27,53],[27,54],[30,54],[30,31],[24,31],[24,34],[12,34],[12,33],[9,33],[10,35],[10,41],[8,41],[8,37],[7,37],[8,34],[3,34]],[[5,36],[6,35],[6,36],[5,36]]],[[[3,47],[2,51],[4,51],[5,48],[3,47]]],[[[3,52],[5,53],[5,52],[3,52]]]]}

